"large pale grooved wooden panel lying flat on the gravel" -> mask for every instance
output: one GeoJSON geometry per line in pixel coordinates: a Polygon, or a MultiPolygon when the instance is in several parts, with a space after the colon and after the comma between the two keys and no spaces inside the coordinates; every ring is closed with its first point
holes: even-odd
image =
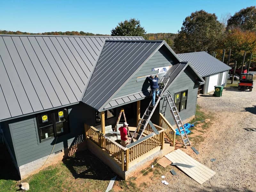
{"type": "Polygon", "coordinates": [[[200,184],[209,180],[213,175],[216,174],[214,171],[199,163],[180,149],[172,151],[171,153],[165,155],[165,157],[169,159],[172,163],[194,165],[195,167],[192,168],[181,166],[177,167],[179,167],[180,170],[185,172],[189,177],[191,177],[193,180],[200,184]]]}

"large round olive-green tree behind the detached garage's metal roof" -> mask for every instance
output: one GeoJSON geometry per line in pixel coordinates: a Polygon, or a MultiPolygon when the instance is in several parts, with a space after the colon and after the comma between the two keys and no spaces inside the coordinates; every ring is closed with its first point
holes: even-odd
{"type": "Polygon", "coordinates": [[[183,21],[181,31],[174,39],[176,52],[211,52],[218,47],[223,38],[224,26],[217,16],[204,10],[192,12],[183,21]]]}

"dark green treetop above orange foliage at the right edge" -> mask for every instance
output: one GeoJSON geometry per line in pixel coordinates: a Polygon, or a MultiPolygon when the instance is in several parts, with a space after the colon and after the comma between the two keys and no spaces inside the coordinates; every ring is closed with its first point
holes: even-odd
{"type": "Polygon", "coordinates": [[[236,12],[228,20],[227,29],[241,28],[242,30],[256,31],[256,7],[251,6],[236,12]]]}

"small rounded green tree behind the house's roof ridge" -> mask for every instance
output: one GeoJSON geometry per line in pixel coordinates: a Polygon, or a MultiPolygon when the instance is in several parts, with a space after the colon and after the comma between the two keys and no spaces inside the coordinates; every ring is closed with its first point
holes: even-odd
{"type": "Polygon", "coordinates": [[[141,27],[140,20],[130,19],[118,23],[116,28],[111,30],[111,36],[145,36],[146,31],[141,27]]]}

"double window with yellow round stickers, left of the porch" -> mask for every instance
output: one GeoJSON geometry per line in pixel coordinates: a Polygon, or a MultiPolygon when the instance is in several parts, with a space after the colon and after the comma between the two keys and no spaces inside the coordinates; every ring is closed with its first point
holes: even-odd
{"type": "Polygon", "coordinates": [[[69,132],[66,108],[47,111],[36,116],[40,142],[69,132]]]}

